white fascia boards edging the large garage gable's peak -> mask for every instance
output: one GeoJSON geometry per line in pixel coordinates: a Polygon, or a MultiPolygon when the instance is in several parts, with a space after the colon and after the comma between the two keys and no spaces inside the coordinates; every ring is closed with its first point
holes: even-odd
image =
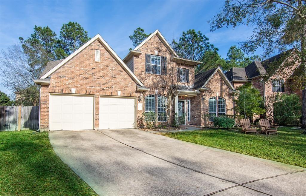
{"type": "Polygon", "coordinates": [[[69,60],[71,60],[74,56],[82,52],[84,49],[86,49],[89,45],[91,45],[96,40],[99,40],[110,52],[110,54],[117,60],[117,62],[121,65],[121,67],[128,72],[128,74],[134,79],[134,81],[141,86],[144,86],[142,82],[133,74],[133,72],[128,68],[128,66],[120,59],[120,57],[115,53],[115,51],[110,47],[110,45],[107,44],[107,42],[101,37],[100,34],[97,34],[95,37],[91,38],[88,42],[86,42],[84,45],[82,45],[79,49],[77,49],[74,53],[69,55],[67,58],[65,58],[62,62],[60,62],[58,65],[53,67],[50,71],[48,71],[46,74],[44,74],[41,79],[45,79],[49,77],[51,74],[53,74],[55,71],[57,71],[59,68],[61,68],[64,64],[66,64],[69,60]]]}

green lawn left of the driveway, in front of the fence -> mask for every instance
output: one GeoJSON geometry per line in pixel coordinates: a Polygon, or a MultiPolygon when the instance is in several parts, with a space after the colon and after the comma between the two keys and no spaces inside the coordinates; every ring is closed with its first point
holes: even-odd
{"type": "Polygon", "coordinates": [[[48,132],[0,132],[0,195],[97,195],[54,153],[48,132]]]}

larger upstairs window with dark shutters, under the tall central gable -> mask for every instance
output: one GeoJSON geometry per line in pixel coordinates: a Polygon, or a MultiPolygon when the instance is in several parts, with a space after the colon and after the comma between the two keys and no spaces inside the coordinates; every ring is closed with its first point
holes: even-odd
{"type": "Polygon", "coordinates": [[[167,75],[167,57],[146,54],[145,70],[148,74],[167,75]]]}

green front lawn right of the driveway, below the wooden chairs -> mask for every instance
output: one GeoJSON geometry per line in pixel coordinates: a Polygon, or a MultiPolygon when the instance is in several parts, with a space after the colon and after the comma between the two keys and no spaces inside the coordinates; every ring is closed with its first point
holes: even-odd
{"type": "Polygon", "coordinates": [[[306,168],[306,136],[301,130],[278,128],[278,135],[247,134],[222,129],[161,133],[164,136],[297,165],[306,168]]]}

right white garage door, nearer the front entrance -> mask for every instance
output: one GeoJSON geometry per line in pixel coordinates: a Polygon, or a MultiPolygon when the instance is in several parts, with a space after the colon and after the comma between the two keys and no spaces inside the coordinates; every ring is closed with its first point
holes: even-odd
{"type": "Polygon", "coordinates": [[[135,99],[100,97],[99,129],[135,128],[135,99]]]}

